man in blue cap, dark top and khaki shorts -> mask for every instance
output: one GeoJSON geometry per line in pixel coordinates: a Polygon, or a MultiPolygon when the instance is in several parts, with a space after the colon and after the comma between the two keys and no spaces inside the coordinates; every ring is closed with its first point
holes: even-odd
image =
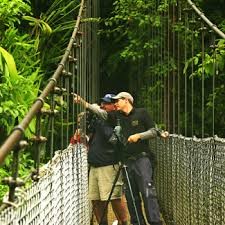
{"type": "MultiPolygon", "coordinates": [[[[106,94],[101,99],[101,108],[106,112],[115,110],[112,97],[106,94]]],[[[96,106],[97,107],[97,106],[96,106]]],[[[114,146],[109,143],[113,128],[106,120],[94,117],[91,122],[91,136],[89,140],[88,163],[89,171],[89,198],[93,204],[97,222],[107,225],[107,200],[112,190],[113,181],[119,170],[118,159],[114,146]],[[104,215],[103,215],[104,214],[104,215]]],[[[122,198],[122,176],[119,176],[113,189],[110,201],[119,224],[127,224],[126,204],[122,198]]]]}

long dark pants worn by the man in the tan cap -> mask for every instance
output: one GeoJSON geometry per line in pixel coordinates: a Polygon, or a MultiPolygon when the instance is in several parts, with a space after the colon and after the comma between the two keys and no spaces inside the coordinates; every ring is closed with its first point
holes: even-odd
{"type": "MultiPolygon", "coordinates": [[[[128,160],[126,162],[126,165],[141,225],[145,225],[146,222],[142,212],[140,193],[144,202],[144,209],[148,222],[150,224],[161,224],[156,190],[153,186],[152,180],[152,165],[149,158],[147,156],[143,156],[136,160],[128,160]]],[[[131,216],[131,223],[133,225],[137,225],[138,221],[136,218],[130,191],[127,185],[127,180],[124,179],[124,182],[126,187],[125,195],[129,213],[131,216]]]]}

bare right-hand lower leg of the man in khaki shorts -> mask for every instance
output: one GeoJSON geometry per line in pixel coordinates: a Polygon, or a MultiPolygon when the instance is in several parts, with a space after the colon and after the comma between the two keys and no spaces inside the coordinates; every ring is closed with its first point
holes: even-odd
{"type": "Polygon", "coordinates": [[[127,225],[127,207],[124,197],[111,200],[113,211],[120,225],[127,225]]]}

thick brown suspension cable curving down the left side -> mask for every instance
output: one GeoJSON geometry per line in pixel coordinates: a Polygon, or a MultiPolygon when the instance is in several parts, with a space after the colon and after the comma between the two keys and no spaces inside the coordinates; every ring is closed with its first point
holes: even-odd
{"type": "Polygon", "coordinates": [[[42,93],[39,95],[39,97],[34,101],[33,105],[23,118],[23,120],[19,123],[18,126],[16,126],[10,136],[5,140],[5,142],[0,147],[0,164],[4,162],[4,159],[9,154],[9,152],[14,148],[14,146],[18,143],[18,141],[21,139],[22,134],[30,124],[31,120],[37,115],[37,113],[41,110],[42,106],[44,105],[44,99],[48,96],[48,94],[53,90],[55,87],[58,79],[60,78],[60,75],[62,73],[62,70],[64,68],[64,65],[69,57],[70,51],[73,47],[78,27],[81,22],[81,15],[82,11],[84,9],[84,0],[81,0],[80,3],[80,9],[77,16],[76,24],[72,33],[72,36],[70,38],[69,44],[65,50],[65,53],[55,70],[53,76],[49,79],[48,84],[43,89],[42,93]]]}

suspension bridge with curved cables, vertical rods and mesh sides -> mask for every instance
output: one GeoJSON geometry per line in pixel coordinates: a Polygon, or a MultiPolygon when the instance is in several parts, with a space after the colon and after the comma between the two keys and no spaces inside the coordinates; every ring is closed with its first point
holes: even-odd
{"type": "MultiPolygon", "coordinates": [[[[149,13],[160,14],[161,26],[146,32],[149,40],[159,37],[159,41],[152,43],[145,63],[159,64],[161,69],[133,82],[130,91],[137,90],[140,83],[156,87],[154,93],[147,89],[149,111],[170,132],[167,141],[150,141],[161,212],[167,225],[224,225],[225,139],[216,136],[220,114],[214,106],[221,84],[218,61],[225,34],[190,0],[157,1],[154,7],[149,13]],[[166,10],[160,11],[163,5],[166,10]],[[201,46],[200,52],[196,46],[201,46]],[[201,77],[197,85],[196,76],[201,77]],[[210,110],[206,109],[209,97],[210,110]],[[196,121],[201,121],[200,128],[196,121]]],[[[99,98],[98,25],[85,22],[97,17],[99,1],[81,0],[73,34],[57,69],[0,148],[1,164],[8,154],[13,155],[12,176],[3,180],[9,193],[2,202],[1,225],[90,224],[87,148],[80,142],[70,143],[77,114],[85,109],[72,103],[71,92],[89,102],[99,98]],[[33,120],[35,136],[25,140],[33,120]],[[34,152],[35,169],[21,180],[19,162],[26,148],[34,152]],[[50,160],[43,165],[45,152],[50,152],[50,160]]],[[[142,65],[139,68],[141,74],[142,65]]]]}

